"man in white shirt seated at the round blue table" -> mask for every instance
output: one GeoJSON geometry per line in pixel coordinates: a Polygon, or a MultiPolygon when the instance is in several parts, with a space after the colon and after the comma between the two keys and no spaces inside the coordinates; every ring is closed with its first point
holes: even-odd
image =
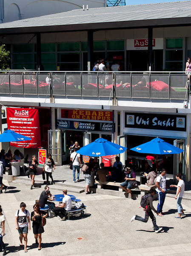
{"type": "Polygon", "coordinates": [[[55,205],[55,208],[53,209],[53,212],[56,214],[56,216],[60,217],[60,221],[66,220],[64,215],[67,211],[71,210],[71,197],[67,195],[67,192],[67,189],[63,189],[63,203],[55,205]]]}

